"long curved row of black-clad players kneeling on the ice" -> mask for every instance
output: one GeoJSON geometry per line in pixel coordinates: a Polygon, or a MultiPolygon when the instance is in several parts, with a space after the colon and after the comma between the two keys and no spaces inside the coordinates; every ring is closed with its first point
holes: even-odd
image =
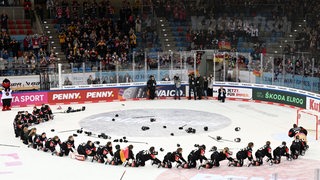
{"type": "Polygon", "coordinates": [[[151,160],[152,165],[157,167],[172,168],[173,165],[177,168],[213,168],[219,167],[220,162],[228,160],[228,166],[241,167],[244,165],[244,161],[248,159],[246,166],[261,166],[263,160],[266,157],[266,162],[270,165],[281,163],[281,157],[285,156],[287,160],[297,159],[299,156],[303,156],[308,149],[306,142],[307,131],[303,127],[298,127],[296,124],[289,130],[289,137],[293,137],[290,147],[283,141],[281,145],[276,147],[273,151],[271,149],[270,141],[267,141],[264,146],[260,147],[255,154],[253,154],[252,148],[254,143],[249,142],[247,147],[239,150],[236,153],[236,158],[231,157],[232,151],[228,147],[218,150],[216,146],[213,146],[209,152],[211,152],[210,158],[205,156],[205,145],[194,145],[195,149],[191,151],[185,159],[182,156],[183,149],[178,146],[176,151],[168,152],[164,159],[161,161],[157,158],[158,152],[155,147],[150,147],[147,150],[139,151],[135,156],[133,153],[133,145],[128,145],[121,149],[120,145],[115,146],[111,142],[107,142],[106,145],[100,145],[98,142],[87,141],[81,143],[75,148],[74,137],[69,136],[64,142],[60,140],[58,136],[47,138],[46,133],[37,134],[36,128],[29,128],[34,124],[39,124],[44,121],[52,120],[52,112],[48,105],[43,105],[42,109],[34,110],[31,113],[27,111],[20,111],[14,120],[14,130],[16,137],[20,137],[24,144],[28,147],[32,147],[44,152],[51,152],[52,155],[58,156],[70,156],[77,160],[89,159],[92,162],[110,164],[110,165],[124,165],[131,167],[145,166],[146,161],[151,160]],[[301,138],[300,136],[304,137],[301,138]],[[60,150],[57,151],[57,146],[60,150]],[[255,156],[255,158],[253,157],[255,156]],[[89,158],[90,157],[90,158],[89,158]],[[200,164],[197,164],[197,162],[200,164]]]}

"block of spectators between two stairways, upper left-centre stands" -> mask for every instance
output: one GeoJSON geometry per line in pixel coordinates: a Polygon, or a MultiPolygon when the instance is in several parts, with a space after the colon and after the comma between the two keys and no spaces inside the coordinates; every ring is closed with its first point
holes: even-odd
{"type": "Polygon", "coordinates": [[[62,1],[50,5],[56,10],[61,49],[68,63],[76,68],[86,63],[91,69],[101,67],[101,70],[131,66],[133,50],[152,47],[158,41],[150,10],[144,8],[141,13],[140,6],[123,0],[117,14],[109,0],[82,5],[77,1],[72,4],[62,1]],[[82,14],[79,14],[79,8],[82,14]],[[138,35],[142,39],[140,44],[138,35]]]}

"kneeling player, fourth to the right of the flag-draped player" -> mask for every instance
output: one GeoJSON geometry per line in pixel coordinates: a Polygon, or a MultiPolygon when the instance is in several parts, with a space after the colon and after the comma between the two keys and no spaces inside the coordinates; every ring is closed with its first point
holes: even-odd
{"type": "Polygon", "coordinates": [[[207,168],[210,169],[212,167],[219,167],[220,166],[220,161],[223,160],[229,160],[229,163],[232,163],[234,161],[234,159],[231,157],[232,152],[229,151],[228,147],[223,148],[222,151],[217,151],[217,147],[213,146],[210,150],[212,152],[211,156],[210,156],[210,160],[208,163],[200,166],[199,168],[207,168]]]}

